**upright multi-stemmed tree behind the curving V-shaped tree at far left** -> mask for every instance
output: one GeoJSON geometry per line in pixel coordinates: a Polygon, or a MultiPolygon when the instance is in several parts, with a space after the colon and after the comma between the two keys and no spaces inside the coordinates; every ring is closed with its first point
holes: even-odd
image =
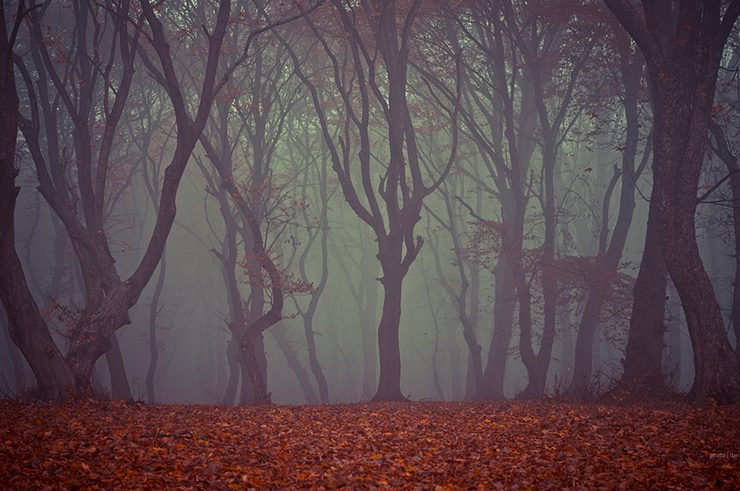
{"type": "MultiPolygon", "coordinates": [[[[124,20],[130,5],[123,3],[117,10],[111,5],[93,7],[86,1],[72,3],[69,19],[79,28],[71,30],[70,52],[57,48],[52,54],[50,39],[42,33],[41,22],[48,14],[49,5],[30,15],[30,34],[32,59],[38,76],[38,97],[34,93],[31,74],[22,60],[16,60],[30,99],[30,118],[21,119],[21,128],[31,152],[37,176],[39,191],[46,199],[64,225],[71,238],[75,256],[82,272],[82,289],[85,306],[74,321],[93,315],[103,304],[106,292],[117,278],[115,260],[110,252],[108,236],[108,211],[115,193],[111,191],[109,179],[114,172],[115,135],[124,115],[133,80],[134,52],[138,46],[139,35],[130,39],[124,20]],[[107,17],[106,8],[115,12],[112,30],[106,29],[100,21],[107,17]],[[88,30],[88,26],[90,29],[88,30]],[[111,36],[108,50],[100,40],[111,36]],[[120,70],[113,70],[115,53],[120,53],[120,70]],[[104,70],[98,70],[96,60],[107,59],[104,70]],[[75,70],[75,77],[70,75],[75,70]],[[73,81],[76,78],[77,86],[73,81]],[[60,143],[65,142],[64,124],[59,125],[59,114],[52,109],[54,104],[48,96],[47,83],[50,82],[56,97],[64,108],[64,116],[71,122],[70,147],[73,149],[73,168],[65,172],[65,157],[60,155],[60,143]],[[117,85],[117,90],[112,87],[117,85]],[[41,107],[41,115],[38,108],[41,107]],[[103,108],[100,116],[93,116],[103,108]],[[41,121],[43,119],[43,123],[41,121]],[[46,133],[46,152],[42,150],[40,129],[46,133]],[[100,130],[102,128],[102,131],[100,130]],[[56,134],[53,134],[56,133],[56,134]],[[72,174],[76,172],[75,179],[72,174]],[[74,183],[74,184],[72,184],[74,183]],[[79,202],[80,207],[77,207],[79,202]],[[61,212],[61,208],[66,208],[61,212]],[[80,209],[81,208],[81,209],[80,209]],[[74,230],[73,229],[77,229],[74,230]],[[83,232],[84,230],[84,232],[83,232]],[[87,234],[87,244],[75,240],[87,234]]],[[[64,25],[64,23],[60,23],[64,25]]],[[[61,34],[63,36],[63,34],[61,34]]],[[[74,333],[70,333],[74,338],[74,333]]],[[[106,350],[111,373],[112,396],[130,399],[131,392],[123,365],[123,358],[115,334],[109,336],[110,347],[106,350]]],[[[69,356],[69,353],[68,353],[69,356]]]]}

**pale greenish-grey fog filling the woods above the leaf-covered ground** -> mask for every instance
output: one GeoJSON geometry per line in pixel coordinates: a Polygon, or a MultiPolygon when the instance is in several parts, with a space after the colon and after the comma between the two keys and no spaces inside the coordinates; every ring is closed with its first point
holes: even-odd
{"type": "MultiPolygon", "coordinates": [[[[99,350],[92,392],[150,403],[588,399],[616,387],[635,299],[648,298],[636,278],[661,131],[652,59],[603,6],[398,2],[375,19],[319,3],[62,1],[27,15],[14,244],[65,380],[86,390],[80,360],[99,350]],[[182,178],[167,181],[179,162],[182,178]],[[125,307],[107,308],[119,293],[125,307]],[[579,336],[589,315],[591,339],[579,336]],[[85,336],[95,348],[77,353],[85,336]]],[[[736,156],[737,36],[690,225],[730,353],[737,183],[718,135],[736,156]]],[[[660,377],[687,393],[684,312],[697,311],[671,279],[683,242],[668,240],[651,312],[664,317],[660,377]]],[[[26,361],[38,355],[18,347],[33,341],[12,340],[28,327],[19,315],[2,314],[7,396],[46,384],[26,361]]]]}

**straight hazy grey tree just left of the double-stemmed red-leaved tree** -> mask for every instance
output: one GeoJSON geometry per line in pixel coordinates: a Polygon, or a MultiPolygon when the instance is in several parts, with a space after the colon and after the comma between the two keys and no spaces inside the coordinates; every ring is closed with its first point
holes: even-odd
{"type": "MultiPolygon", "coordinates": [[[[471,9],[470,27],[462,17],[464,39],[475,46],[463,58],[466,66],[466,90],[461,116],[469,138],[478,150],[477,160],[483,164],[486,177],[493,185],[483,182],[473,172],[467,172],[478,185],[498,200],[501,206],[500,247],[496,251],[481,251],[480,242],[471,249],[475,255],[494,252],[495,278],[493,325],[488,360],[483,368],[480,346],[472,332],[465,332],[474,370],[480,374],[475,397],[498,400],[504,397],[504,377],[512,337],[514,311],[519,301],[519,326],[525,330],[531,323],[529,280],[522,263],[525,246],[525,217],[530,192],[527,175],[535,151],[531,138],[536,127],[532,85],[522,77],[520,53],[507,25],[503,4],[480,2],[471,9]],[[480,365],[480,368],[476,367],[480,365]]],[[[515,22],[513,18],[509,18],[515,22]]],[[[473,215],[478,215],[474,212],[473,215]]],[[[494,220],[478,216],[483,229],[491,230],[494,220]]]]}

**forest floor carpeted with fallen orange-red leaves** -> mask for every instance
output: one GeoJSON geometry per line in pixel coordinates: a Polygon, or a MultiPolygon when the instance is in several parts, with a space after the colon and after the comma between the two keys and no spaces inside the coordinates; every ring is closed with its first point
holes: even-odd
{"type": "Polygon", "coordinates": [[[0,404],[0,488],[740,486],[740,407],[0,404]]]}

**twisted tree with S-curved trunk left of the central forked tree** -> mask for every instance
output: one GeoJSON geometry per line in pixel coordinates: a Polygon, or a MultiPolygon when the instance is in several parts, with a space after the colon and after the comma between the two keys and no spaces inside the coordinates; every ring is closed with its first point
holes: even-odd
{"type": "MultiPolygon", "coordinates": [[[[316,4],[317,5],[317,4],[316,4]]],[[[305,12],[285,15],[280,9],[271,11],[262,2],[250,8],[242,6],[239,18],[252,19],[266,30],[294,20],[305,12]],[[271,15],[278,20],[271,21],[271,15]]],[[[240,54],[236,46],[239,31],[234,30],[230,40],[235,53],[231,66],[236,66],[247,52],[240,54]]],[[[246,30],[247,43],[254,35],[246,30]]],[[[271,247],[287,223],[300,212],[283,203],[285,193],[275,176],[273,157],[284,135],[286,119],[300,91],[297,80],[283,66],[288,60],[286,48],[272,39],[251,42],[254,47],[248,64],[235,72],[238,81],[229,84],[229,90],[219,97],[211,125],[200,137],[212,168],[218,176],[207,177],[211,194],[217,197],[226,227],[223,245],[225,254],[219,254],[224,267],[224,278],[229,294],[232,333],[229,343],[229,382],[224,404],[233,402],[233,392],[241,369],[241,404],[267,402],[267,362],[263,346],[263,332],[282,318],[284,295],[299,293],[301,287],[290,283],[275,259],[271,247]],[[242,177],[243,176],[243,177],[242,177]],[[236,213],[235,213],[236,212],[236,213]],[[243,259],[237,258],[237,234],[244,248],[243,259]],[[272,236],[272,238],[270,237],[272,236]],[[247,302],[241,298],[234,268],[246,272],[249,284],[247,302]],[[268,308],[269,305],[269,308],[268,308]],[[236,363],[235,363],[236,362],[236,363]]],[[[203,168],[203,167],[202,167],[203,168]]],[[[209,171],[204,170],[208,176],[209,171]]]]}

